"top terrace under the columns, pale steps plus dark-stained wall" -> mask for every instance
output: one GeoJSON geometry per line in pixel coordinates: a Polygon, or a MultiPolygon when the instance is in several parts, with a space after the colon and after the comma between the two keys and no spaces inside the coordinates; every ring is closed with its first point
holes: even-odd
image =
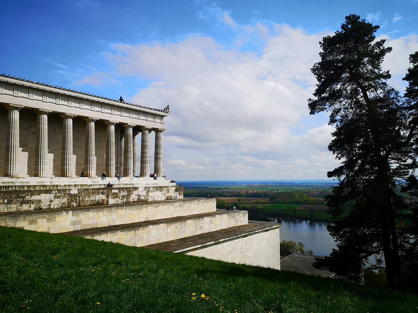
{"type": "Polygon", "coordinates": [[[64,209],[183,198],[183,186],[163,178],[0,177],[0,212],[64,209]],[[111,182],[114,188],[105,188],[111,182]]]}

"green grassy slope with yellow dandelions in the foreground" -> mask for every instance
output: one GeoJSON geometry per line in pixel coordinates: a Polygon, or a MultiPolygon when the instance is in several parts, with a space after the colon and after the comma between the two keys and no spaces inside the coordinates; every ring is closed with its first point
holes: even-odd
{"type": "Polygon", "coordinates": [[[343,280],[15,228],[0,227],[0,237],[2,312],[408,313],[418,307],[417,295],[343,280]]]}

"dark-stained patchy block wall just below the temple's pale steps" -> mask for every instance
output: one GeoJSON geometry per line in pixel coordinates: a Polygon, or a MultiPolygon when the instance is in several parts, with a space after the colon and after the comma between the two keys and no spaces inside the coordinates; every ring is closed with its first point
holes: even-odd
{"type": "Polygon", "coordinates": [[[2,190],[0,193],[0,212],[87,207],[181,198],[183,198],[183,186],[12,189],[2,190]]]}

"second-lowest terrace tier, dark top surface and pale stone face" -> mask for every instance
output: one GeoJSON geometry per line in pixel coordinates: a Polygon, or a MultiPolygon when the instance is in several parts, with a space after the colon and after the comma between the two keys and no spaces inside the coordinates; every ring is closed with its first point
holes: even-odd
{"type": "Polygon", "coordinates": [[[65,235],[118,242],[142,247],[209,232],[247,225],[247,211],[216,211],[136,222],[115,226],[64,232],[65,235]]]}

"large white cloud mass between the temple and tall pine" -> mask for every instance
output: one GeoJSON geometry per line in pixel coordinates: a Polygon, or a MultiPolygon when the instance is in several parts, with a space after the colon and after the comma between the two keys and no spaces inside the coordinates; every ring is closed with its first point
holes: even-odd
{"type": "MultiPolygon", "coordinates": [[[[108,55],[119,75],[153,81],[133,96],[135,103],[170,105],[165,174],[177,180],[326,178],[339,165],[327,149],[333,127],[326,114],[308,115],[307,99],[315,89],[310,69],[319,61],[318,42],[330,33],[239,25],[222,11],[217,16],[235,29],[237,40],[248,34],[263,40],[260,53],[191,36],[178,43],[116,45],[120,53],[108,55]],[[298,126],[304,128],[296,134],[298,126]]],[[[408,67],[403,58],[408,63],[405,51],[415,48],[414,36],[388,40],[394,52],[385,66],[392,73],[408,67]]]]}

